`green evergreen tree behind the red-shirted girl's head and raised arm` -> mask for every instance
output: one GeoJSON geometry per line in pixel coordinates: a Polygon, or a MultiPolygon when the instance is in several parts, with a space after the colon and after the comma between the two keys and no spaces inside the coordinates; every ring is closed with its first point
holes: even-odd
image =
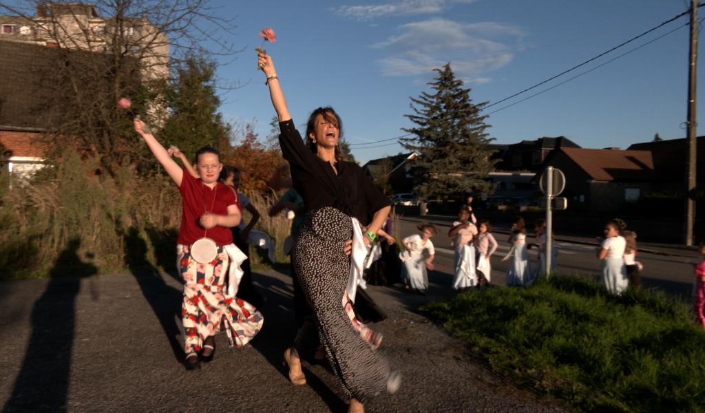
{"type": "Polygon", "coordinates": [[[216,65],[199,56],[189,56],[176,66],[165,96],[170,116],[159,132],[164,145],[176,145],[193,156],[204,145],[227,149],[230,126],[223,121],[216,94],[216,65]]]}

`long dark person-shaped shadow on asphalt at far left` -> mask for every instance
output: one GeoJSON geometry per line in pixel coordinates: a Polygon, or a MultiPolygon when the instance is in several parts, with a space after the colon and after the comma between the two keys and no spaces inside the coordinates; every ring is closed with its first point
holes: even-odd
{"type": "Polygon", "coordinates": [[[32,333],[20,373],[3,412],[66,411],[81,279],[98,272],[81,261],[80,238],[71,238],[49,271],[49,283],[32,308],[32,333]]]}

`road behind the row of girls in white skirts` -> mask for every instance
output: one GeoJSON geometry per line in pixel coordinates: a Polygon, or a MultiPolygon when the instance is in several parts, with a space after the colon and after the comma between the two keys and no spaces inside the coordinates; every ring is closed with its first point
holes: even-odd
{"type": "MultiPolygon", "coordinates": [[[[397,221],[399,234],[406,236],[417,233],[416,226],[422,221],[422,218],[417,217],[405,217],[403,220],[397,221]]],[[[438,265],[436,267],[445,273],[453,273],[453,247],[450,246],[450,238],[448,238],[450,222],[436,222],[435,225],[439,228],[439,235],[436,235],[432,240],[437,252],[436,264],[438,265]]],[[[494,236],[499,247],[497,253],[492,257],[492,283],[504,285],[509,261],[501,261],[501,259],[510,248],[507,242],[508,233],[494,233],[494,236]]],[[[532,234],[529,234],[529,242],[533,242],[531,238],[532,234]]],[[[595,257],[596,245],[586,245],[584,242],[561,242],[560,240],[556,245],[558,247],[558,273],[599,276],[600,263],[595,257]]],[[[693,266],[697,264],[699,259],[694,254],[689,252],[688,254],[689,257],[679,257],[639,252],[637,260],[644,264],[644,271],[642,271],[644,286],[660,288],[682,297],[692,297],[693,266]]],[[[532,265],[538,262],[536,249],[529,250],[529,258],[532,265]]],[[[438,282],[441,285],[449,286],[451,284],[452,278],[448,278],[446,274],[432,273],[429,277],[434,278],[434,276],[439,278],[438,282]]]]}

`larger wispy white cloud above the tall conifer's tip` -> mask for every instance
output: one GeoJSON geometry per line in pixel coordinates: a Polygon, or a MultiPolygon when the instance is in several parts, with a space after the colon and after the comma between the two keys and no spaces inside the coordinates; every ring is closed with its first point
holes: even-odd
{"type": "Polygon", "coordinates": [[[400,25],[400,34],[373,44],[386,56],[377,63],[384,75],[427,75],[450,61],[460,78],[489,82],[482,73],[512,61],[524,36],[517,27],[496,22],[458,23],[432,18],[400,25]]]}

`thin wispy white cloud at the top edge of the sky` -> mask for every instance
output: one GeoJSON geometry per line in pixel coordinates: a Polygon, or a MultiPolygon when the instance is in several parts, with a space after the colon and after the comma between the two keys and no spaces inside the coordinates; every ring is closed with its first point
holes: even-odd
{"type": "Polygon", "coordinates": [[[472,3],[475,0],[400,0],[393,3],[341,6],[333,8],[338,16],[357,20],[372,20],[385,16],[412,16],[419,14],[441,13],[453,4],[472,3]]]}

